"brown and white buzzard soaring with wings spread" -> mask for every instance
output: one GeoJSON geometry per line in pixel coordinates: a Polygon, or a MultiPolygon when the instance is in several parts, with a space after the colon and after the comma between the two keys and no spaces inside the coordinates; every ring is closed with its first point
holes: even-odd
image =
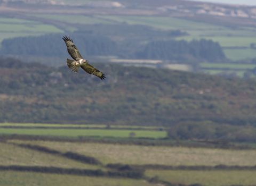
{"type": "Polygon", "coordinates": [[[106,78],[105,74],[100,72],[98,69],[96,69],[92,65],[89,65],[88,61],[83,59],[83,57],[79,54],[78,49],[74,45],[72,38],[70,39],[69,36],[68,37],[65,36],[62,39],[65,41],[65,43],[67,45],[68,54],[74,59],[74,60],[69,60],[69,59],[66,60],[67,65],[68,65],[69,69],[71,69],[71,71],[78,73],[79,66],[81,66],[81,68],[85,72],[87,72],[89,74],[96,75],[101,80],[106,78]]]}

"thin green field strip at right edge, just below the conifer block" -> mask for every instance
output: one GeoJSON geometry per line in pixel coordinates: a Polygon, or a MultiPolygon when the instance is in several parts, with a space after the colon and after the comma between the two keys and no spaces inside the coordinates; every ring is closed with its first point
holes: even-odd
{"type": "MultiPolygon", "coordinates": [[[[254,50],[256,52],[256,50],[254,50]]],[[[256,56],[256,55],[255,55],[256,56]]],[[[216,69],[254,69],[255,64],[228,64],[228,63],[200,63],[203,68],[216,68],[216,69]]]]}

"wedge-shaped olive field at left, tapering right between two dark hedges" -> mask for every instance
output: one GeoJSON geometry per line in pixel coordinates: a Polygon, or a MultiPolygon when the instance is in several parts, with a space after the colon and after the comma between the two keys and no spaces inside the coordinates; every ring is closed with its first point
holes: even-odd
{"type": "Polygon", "coordinates": [[[93,170],[101,168],[96,165],[83,164],[65,157],[42,153],[6,143],[0,143],[0,149],[0,165],[55,166],[93,170]]]}

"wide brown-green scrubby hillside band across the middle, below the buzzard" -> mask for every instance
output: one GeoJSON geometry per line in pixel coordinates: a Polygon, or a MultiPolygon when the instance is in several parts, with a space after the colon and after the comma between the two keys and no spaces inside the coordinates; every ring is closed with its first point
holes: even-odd
{"type": "Polygon", "coordinates": [[[167,126],[176,131],[172,138],[255,141],[254,79],[92,65],[106,80],[82,69],[1,59],[0,122],[167,126]]]}

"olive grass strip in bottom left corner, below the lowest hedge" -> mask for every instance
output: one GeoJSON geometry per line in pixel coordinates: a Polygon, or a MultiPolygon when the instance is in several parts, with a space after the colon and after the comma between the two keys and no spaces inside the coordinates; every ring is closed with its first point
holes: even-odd
{"type": "Polygon", "coordinates": [[[43,174],[32,172],[15,172],[15,171],[0,171],[1,186],[70,186],[70,185],[86,185],[86,186],[150,186],[155,184],[147,183],[144,180],[132,179],[112,179],[108,177],[87,177],[75,175],[59,175],[59,174],[43,174]]]}

